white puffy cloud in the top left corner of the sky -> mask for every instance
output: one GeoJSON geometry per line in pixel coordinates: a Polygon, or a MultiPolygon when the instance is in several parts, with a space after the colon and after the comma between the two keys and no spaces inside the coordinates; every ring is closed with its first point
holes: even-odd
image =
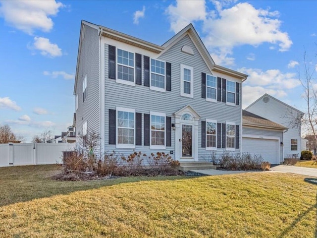
{"type": "Polygon", "coordinates": [[[50,16],[55,16],[63,6],[55,0],[4,0],[0,14],[7,24],[31,35],[36,29],[49,32],[53,28],[50,16]]]}

